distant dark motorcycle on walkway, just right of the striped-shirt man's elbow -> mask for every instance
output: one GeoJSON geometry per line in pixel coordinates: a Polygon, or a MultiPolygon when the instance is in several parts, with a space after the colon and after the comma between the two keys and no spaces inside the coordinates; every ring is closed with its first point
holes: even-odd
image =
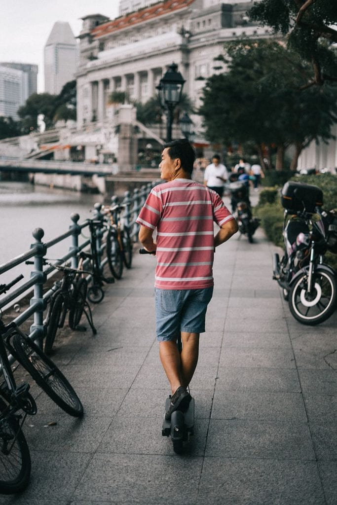
{"type": "Polygon", "coordinates": [[[253,242],[253,235],[260,224],[258,218],[253,218],[249,199],[249,188],[245,181],[230,182],[229,192],[233,215],[236,218],[240,234],[247,235],[248,241],[253,242]]]}

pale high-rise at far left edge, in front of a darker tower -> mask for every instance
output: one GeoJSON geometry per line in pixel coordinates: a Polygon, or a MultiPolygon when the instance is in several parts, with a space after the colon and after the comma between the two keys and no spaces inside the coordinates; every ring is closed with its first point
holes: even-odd
{"type": "Polygon", "coordinates": [[[18,120],[17,111],[28,98],[28,74],[0,64],[0,116],[18,120]]]}

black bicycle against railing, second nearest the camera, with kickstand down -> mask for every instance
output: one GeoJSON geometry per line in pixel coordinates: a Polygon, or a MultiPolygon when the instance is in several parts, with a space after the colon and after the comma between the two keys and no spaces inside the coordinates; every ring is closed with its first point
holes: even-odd
{"type": "MultiPolygon", "coordinates": [[[[63,265],[53,265],[63,273],[62,279],[54,284],[54,293],[49,300],[49,311],[44,321],[46,327],[44,352],[50,354],[52,351],[57,330],[63,328],[67,313],[69,313],[68,324],[71,329],[78,328],[83,313],[90,325],[92,333],[95,329],[92,321],[90,306],[86,302],[87,280],[83,270],[83,257],[80,258],[78,269],[63,265]]],[[[81,329],[81,328],[79,328],[81,329]]]]}

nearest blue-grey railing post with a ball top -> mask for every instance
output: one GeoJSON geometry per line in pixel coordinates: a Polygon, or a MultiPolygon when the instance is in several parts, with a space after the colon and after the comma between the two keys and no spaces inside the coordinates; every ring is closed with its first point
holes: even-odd
{"type": "Polygon", "coordinates": [[[35,228],[32,233],[35,238],[35,244],[31,244],[31,248],[37,249],[34,256],[34,271],[31,272],[31,277],[35,277],[34,295],[30,299],[30,306],[34,305],[34,324],[30,327],[30,335],[33,340],[37,340],[37,345],[42,348],[42,341],[44,336],[43,328],[43,310],[45,309],[46,302],[43,300],[43,283],[45,282],[45,274],[43,273],[43,256],[46,252],[45,244],[41,242],[44,235],[42,228],[35,228]]]}

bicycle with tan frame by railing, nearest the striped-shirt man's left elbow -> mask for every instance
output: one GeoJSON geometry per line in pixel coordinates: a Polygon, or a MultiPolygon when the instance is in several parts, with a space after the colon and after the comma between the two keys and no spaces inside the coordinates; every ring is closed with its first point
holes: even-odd
{"type": "Polygon", "coordinates": [[[116,204],[112,207],[102,207],[101,214],[108,219],[108,234],[106,239],[108,265],[112,275],[120,279],[123,273],[123,264],[131,268],[132,241],[128,226],[121,219],[125,205],[116,204]]]}

